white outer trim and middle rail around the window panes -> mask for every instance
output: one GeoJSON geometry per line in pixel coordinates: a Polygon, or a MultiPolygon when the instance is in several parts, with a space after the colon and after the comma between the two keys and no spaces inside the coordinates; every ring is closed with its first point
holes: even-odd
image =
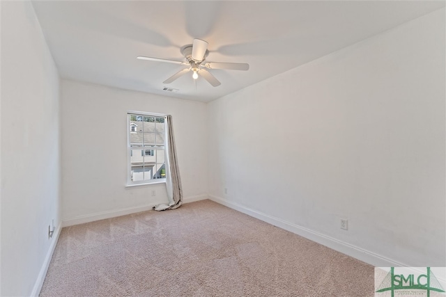
{"type": "MultiPolygon", "coordinates": [[[[130,160],[130,150],[132,150],[132,147],[130,147],[130,120],[129,120],[129,116],[128,115],[144,115],[144,116],[152,116],[155,118],[164,118],[164,125],[165,125],[165,120],[167,120],[167,115],[166,114],[162,114],[162,113],[148,113],[148,112],[144,112],[144,111],[127,111],[126,115],[125,115],[125,120],[127,121],[127,147],[128,147],[128,151],[127,151],[127,184],[125,185],[125,187],[132,187],[132,186],[144,186],[144,185],[151,185],[151,184],[165,184],[166,183],[166,179],[150,179],[150,180],[142,180],[139,182],[134,182],[132,181],[132,177],[130,172],[131,170],[131,166],[132,166],[132,162],[130,160]]],[[[167,129],[167,127],[164,127],[164,129],[167,129]]],[[[133,132],[134,133],[134,132],[133,132]]],[[[164,139],[164,142],[166,141],[166,139],[164,139]]],[[[141,145],[141,150],[157,150],[157,149],[162,149],[164,150],[164,154],[165,154],[165,147],[164,145],[151,145],[151,146],[145,146],[145,145],[141,145]]],[[[164,155],[164,159],[166,158],[166,156],[164,155]]],[[[165,163],[165,162],[164,162],[165,163]]]]}

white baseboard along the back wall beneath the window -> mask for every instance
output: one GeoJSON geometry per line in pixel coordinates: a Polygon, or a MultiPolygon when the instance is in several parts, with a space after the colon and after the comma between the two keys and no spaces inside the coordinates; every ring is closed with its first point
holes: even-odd
{"type": "MultiPolygon", "coordinates": [[[[199,201],[199,200],[205,200],[208,198],[209,198],[208,195],[196,195],[196,196],[190,196],[190,197],[183,198],[183,202],[189,203],[189,202],[194,202],[194,201],[199,201]]],[[[87,214],[85,216],[77,216],[75,218],[68,218],[68,219],[62,220],[62,227],[90,223],[90,222],[94,222],[95,220],[104,220],[106,218],[115,218],[116,216],[125,216],[127,214],[135,214],[135,213],[141,212],[141,211],[148,211],[148,210],[153,209],[153,207],[157,204],[159,204],[159,202],[146,204],[146,205],[143,205],[140,207],[128,207],[125,209],[101,211],[96,214],[87,214]]]]}

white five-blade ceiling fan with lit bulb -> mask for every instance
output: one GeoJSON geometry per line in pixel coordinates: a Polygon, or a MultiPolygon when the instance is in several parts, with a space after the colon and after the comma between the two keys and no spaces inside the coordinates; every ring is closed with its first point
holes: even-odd
{"type": "Polygon", "coordinates": [[[206,57],[209,54],[208,51],[208,42],[201,39],[194,39],[192,45],[185,45],[180,49],[181,54],[185,56],[187,62],[168,60],[162,58],[152,58],[145,56],[138,56],[137,58],[140,60],[148,60],[148,61],[156,61],[156,62],[167,62],[174,63],[179,65],[187,65],[189,67],[180,70],[176,74],[169,77],[163,81],[163,83],[171,83],[186,74],[187,72],[192,71],[192,77],[194,79],[198,79],[199,75],[206,79],[208,83],[212,86],[220,86],[220,81],[218,81],[213,74],[208,72],[207,69],[227,69],[227,70],[248,70],[249,64],[247,63],[217,63],[217,62],[206,62],[206,57]],[[207,68],[207,69],[206,69],[207,68]]]}

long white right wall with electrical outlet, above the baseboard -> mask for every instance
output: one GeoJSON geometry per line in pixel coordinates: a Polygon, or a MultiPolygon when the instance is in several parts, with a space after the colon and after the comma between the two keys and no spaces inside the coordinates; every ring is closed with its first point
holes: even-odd
{"type": "Polygon", "coordinates": [[[213,199],[371,264],[446,266],[444,9],[217,99],[208,127],[213,199]]]}

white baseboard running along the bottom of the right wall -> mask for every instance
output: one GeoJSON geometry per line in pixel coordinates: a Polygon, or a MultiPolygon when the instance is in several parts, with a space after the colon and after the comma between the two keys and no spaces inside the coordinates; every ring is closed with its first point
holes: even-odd
{"type": "Polygon", "coordinates": [[[210,200],[214,202],[223,204],[226,207],[231,209],[236,209],[237,211],[243,212],[243,214],[247,214],[249,216],[253,216],[254,218],[258,218],[259,220],[263,220],[266,223],[270,223],[271,225],[275,225],[289,232],[293,232],[298,234],[306,239],[311,241],[315,241],[317,243],[321,243],[323,246],[327,246],[328,248],[332,248],[333,250],[337,250],[338,252],[342,252],[345,255],[351,256],[355,259],[359,259],[362,262],[366,262],[367,264],[376,266],[376,267],[401,267],[408,266],[401,264],[392,259],[388,259],[386,257],[376,255],[374,252],[369,252],[368,250],[364,250],[357,246],[353,246],[350,243],[346,243],[344,241],[340,241],[339,239],[334,239],[330,236],[315,232],[313,230],[309,230],[305,227],[301,227],[299,225],[295,225],[293,223],[286,222],[280,218],[275,218],[274,216],[270,216],[268,214],[263,214],[261,211],[256,211],[254,209],[250,209],[249,207],[245,207],[236,202],[231,202],[224,198],[216,197],[213,195],[208,196],[210,200]]]}

